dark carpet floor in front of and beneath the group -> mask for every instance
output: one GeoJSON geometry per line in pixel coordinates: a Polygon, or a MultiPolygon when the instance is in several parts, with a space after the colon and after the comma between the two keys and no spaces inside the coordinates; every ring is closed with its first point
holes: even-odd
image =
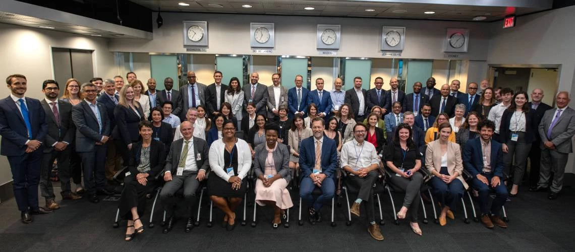
{"type": "MultiPolygon", "coordinates": [[[[55,183],[56,185],[56,183],[55,183]]],[[[200,226],[190,233],[183,231],[185,219],[179,218],[174,230],[162,234],[160,222],[162,208],[156,209],[155,227],[148,227],[150,209],[144,215],[144,234],[137,235],[131,242],[124,241],[125,222],[120,228],[113,228],[117,201],[89,203],[78,201],[57,201],[62,208],[41,216],[34,216],[32,224],[20,222],[16,201],[0,204],[0,247],[2,251],[575,251],[575,190],[566,188],[558,200],[548,200],[546,193],[531,193],[521,188],[518,197],[508,201],[509,227],[489,230],[471,220],[463,223],[460,206],[455,211],[455,220],[447,226],[434,224],[431,205],[425,204],[430,217],[429,224],[423,224],[420,212],[420,227],[423,237],[413,234],[407,220],[398,226],[393,223],[389,196],[381,195],[385,226],[382,233],[385,241],[375,241],[367,233],[365,219],[354,218],[346,226],[346,204],[335,207],[336,227],[329,223],[331,207],[324,207],[324,222],[310,226],[304,222],[297,225],[297,207],[290,211],[290,227],[271,228],[271,208],[258,207],[258,225],[251,227],[253,208],[248,208],[246,226],[237,226],[233,231],[220,227],[222,214],[214,208],[213,227],[206,227],[209,218],[209,201],[204,200],[200,226]]],[[[59,195],[59,188],[55,188],[59,195]]],[[[294,195],[295,196],[295,195],[294,195]]],[[[101,197],[103,199],[103,197],[101,197]]],[[[253,200],[253,196],[251,196],[253,200]]],[[[292,197],[294,201],[298,197],[292,197]]],[[[401,206],[402,195],[395,194],[396,206],[401,206]]],[[[149,202],[151,204],[151,200],[149,202]]],[[[44,200],[40,200],[44,204],[44,200]]],[[[242,205],[243,206],[243,205],[242,205]]],[[[471,218],[470,205],[467,203],[471,218]]],[[[477,208],[477,206],[476,206],[477,208]]],[[[376,216],[378,210],[376,204],[376,216]]],[[[178,213],[182,215],[183,210],[178,213]]],[[[241,218],[243,210],[237,211],[241,218]]],[[[302,213],[302,219],[307,214],[302,213]]]]}

